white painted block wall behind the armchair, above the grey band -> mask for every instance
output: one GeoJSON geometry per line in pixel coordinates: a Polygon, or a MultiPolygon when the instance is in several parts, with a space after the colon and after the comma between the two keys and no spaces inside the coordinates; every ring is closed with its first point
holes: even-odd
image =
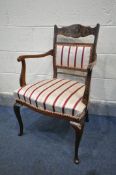
{"type": "MultiPolygon", "coordinates": [[[[51,49],[54,24],[78,23],[101,24],[91,100],[116,102],[115,0],[0,0],[0,94],[18,88],[20,54],[51,49]]],[[[29,81],[52,76],[51,59],[29,62],[29,81]]]]}

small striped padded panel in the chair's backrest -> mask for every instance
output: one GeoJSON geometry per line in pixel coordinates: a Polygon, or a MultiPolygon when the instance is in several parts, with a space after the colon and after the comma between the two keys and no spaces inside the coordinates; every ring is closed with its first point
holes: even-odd
{"type": "Polygon", "coordinates": [[[86,69],[91,61],[92,44],[57,44],[56,65],[86,69]]]}

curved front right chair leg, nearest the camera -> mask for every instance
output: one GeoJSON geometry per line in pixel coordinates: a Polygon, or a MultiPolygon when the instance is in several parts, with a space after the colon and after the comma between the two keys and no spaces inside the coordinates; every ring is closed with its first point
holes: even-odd
{"type": "Polygon", "coordinates": [[[79,145],[80,145],[80,141],[82,138],[82,134],[83,134],[83,129],[84,129],[84,124],[79,124],[76,122],[70,122],[71,126],[74,128],[75,130],[75,154],[74,154],[74,163],[79,164],[79,145]]]}

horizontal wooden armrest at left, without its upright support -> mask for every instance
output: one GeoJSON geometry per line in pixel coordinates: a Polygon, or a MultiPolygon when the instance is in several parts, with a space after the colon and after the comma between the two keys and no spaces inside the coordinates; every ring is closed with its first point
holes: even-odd
{"type": "Polygon", "coordinates": [[[28,59],[28,58],[41,58],[41,57],[45,57],[45,56],[48,56],[48,55],[51,55],[53,56],[53,49],[52,50],[49,50],[48,52],[45,52],[44,54],[37,54],[37,55],[21,55],[17,58],[17,61],[23,61],[25,59],[28,59]]]}

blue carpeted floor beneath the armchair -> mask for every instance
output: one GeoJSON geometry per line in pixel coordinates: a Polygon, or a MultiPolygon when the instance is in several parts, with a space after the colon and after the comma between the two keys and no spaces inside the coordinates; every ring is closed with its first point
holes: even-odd
{"type": "Polygon", "coordinates": [[[24,135],[11,107],[0,107],[0,175],[116,175],[116,117],[90,116],[73,163],[74,131],[66,121],[23,108],[24,135]]]}

